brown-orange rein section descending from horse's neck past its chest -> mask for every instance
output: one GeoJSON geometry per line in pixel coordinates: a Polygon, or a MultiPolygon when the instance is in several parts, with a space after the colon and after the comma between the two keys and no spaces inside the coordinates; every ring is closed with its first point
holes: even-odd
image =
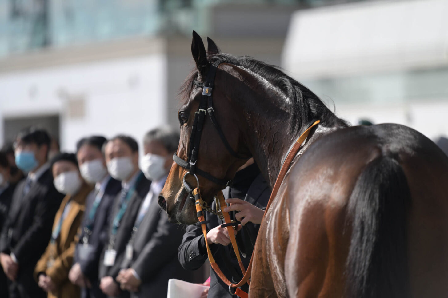
{"type": "MultiPolygon", "coordinates": [[[[274,184],[274,188],[272,189],[271,196],[269,197],[269,201],[267,202],[266,210],[264,210],[264,214],[263,214],[263,219],[266,215],[267,209],[269,209],[269,207],[272,204],[272,199],[275,198],[275,196],[277,195],[280,185],[283,182],[284,176],[288,172],[289,166],[291,165],[291,162],[293,162],[293,159],[296,156],[297,152],[299,151],[300,146],[302,145],[302,143],[306,140],[306,138],[310,134],[311,128],[316,126],[319,122],[320,122],[320,120],[314,121],[314,123],[309,128],[307,128],[305,132],[302,133],[302,135],[297,139],[293,148],[289,151],[288,156],[286,157],[286,159],[280,169],[280,173],[277,176],[276,183],[274,184]]],[[[262,219],[262,222],[263,222],[263,219],[262,219]]],[[[255,249],[255,247],[257,247],[257,240],[258,240],[258,237],[255,240],[254,249],[255,249]]],[[[249,262],[249,266],[247,266],[246,274],[244,275],[244,277],[241,279],[241,281],[239,283],[230,285],[232,288],[241,287],[241,285],[244,285],[247,281],[249,281],[250,274],[252,273],[252,261],[253,260],[254,260],[254,254],[252,254],[252,256],[250,257],[250,262],[249,262]]]]}

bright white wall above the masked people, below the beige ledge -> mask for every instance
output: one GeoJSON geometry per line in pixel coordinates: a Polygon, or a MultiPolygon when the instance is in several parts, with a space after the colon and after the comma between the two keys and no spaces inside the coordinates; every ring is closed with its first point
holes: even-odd
{"type": "Polygon", "coordinates": [[[168,123],[166,69],[166,55],[151,54],[2,74],[0,140],[4,117],[60,114],[63,150],[92,134],[141,143],[148,129],[168,123]]]}

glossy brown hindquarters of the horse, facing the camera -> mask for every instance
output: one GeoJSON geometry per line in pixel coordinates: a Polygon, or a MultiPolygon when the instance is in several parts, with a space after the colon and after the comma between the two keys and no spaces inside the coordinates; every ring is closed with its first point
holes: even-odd
{"type": "Polygon", "coordinates": [[[354,295],[350,285],[360,281],[363,287],[354,287],[358,297],[444,296],[447,179],[446,155],[431,140],[402,125],[344,128],[314,141],[291,166],[260,229],[267,243],[278,243],[273,255],[265,256],[271,266],[275,260],[281,262],[273,273],[274,286],[286,290],[285,294],[277,290],[277,296],[350,297],[354,295]],[[376,205],[381,208],[375,209],[376,205]],[[369,210],[375,219],[373,231],[366,228],[369,210]],[[382,228],[375,230],[378,226],[382,228]],[[272,232],[276,230],[288,232],[272,232]],[[401,230],[403,237],[394,236],[401,230]],[[372,253],[353,257],[360,246],[353,241],[369,247],[370,240],[375,242],[370,245],[372,253]],[[350,261],[366,264],[353,267],[350,261]],[[365,272],[359,269],[350,275],[350,268],[365,272]],[[391,270],[398,273],[383,274],[391,270]],[[365,279],[350,278],[362,274],[365,279]],[[391,294],[400,286],[405,291],[401,296],[391,294]],[[372,290],[375,287],[381,289],[372,290]]]}

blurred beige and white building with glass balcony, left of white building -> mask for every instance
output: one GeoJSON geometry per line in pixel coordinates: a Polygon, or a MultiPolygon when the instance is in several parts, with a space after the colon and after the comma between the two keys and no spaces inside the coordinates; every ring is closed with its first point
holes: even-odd
{"type": "Polygon", "coordinates": [[[65,150],[86,134],[140,140],[155,126],[178,127],[192,30],[226,52],[280,64],[289,17],[306,5],[236,2],[1,1],[0,143],[30,124],[65,150]]]}

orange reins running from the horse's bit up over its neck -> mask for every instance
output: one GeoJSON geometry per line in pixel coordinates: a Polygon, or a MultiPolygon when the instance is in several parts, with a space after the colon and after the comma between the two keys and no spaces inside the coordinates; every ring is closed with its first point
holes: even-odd
{"type": "MultiPolygon", "coordinates": [[[[274,188],[272,189],[272,193],[271,193],[271,196],[269,197],[269,201],[267,202],[267,206],[266,206],[266,210],[264,211],[263,219],[264,219],[264,216],[266,215],[267,209],[269,209],[269,207],[271,206],[272,199],[277,195],[277,192],[278,192],[278,190],[280,188],[280,185],[283,182],[284,176],[288,172],[289,166],[291,165],[291,162],[293,161],[294,157],[296,156],[297,152],[299,151],[300,146],[302,145],[302,143],[306,140],[306,138],[310,134],[311,128],[316,126],[319,122],[320,122],[320,120],[317,120],[309,128],[307,128],[306,131],[302,133],[302,135],[298,138],[296,143],[293,145],[293,148],[289,151],[288,156],[286,157],[286,159],[285,159],[285,161],[283,163],[283,166],[280,169],[280,173],[279,173],[279,175],[278,175],[278,177],[276,179],[276,183],[274,184],[274,188]]],[[[195,199],[195,206],[196,206],[196,211],[198,213],[199,222],[203,222],[201,224],[202,233],[204,234],[205,245],[207,247],[208,260],[210,261],[211,268],[213,268],[213,270],[215,270],[216,274],[220,277],[220,279],[222,281],[224,281],[224,283],[226,285],[229,286],[229,290],[230,290],[230,288],[237,288],[235,290],[235,295],[237,295],[238,297],[241,297],[241,298],[248,298],[249,295],[246,292],[244,292],[241,289],[239,289],[239,287],[244,285],[246,282],[249,285],[249,278],[250,278],[250,274],[252,272],[253,254],[252,254],[252,257],[250,258],[250,262],[249,262],[249,266],[247,268],[247,271],[245,272],[243,263],[241,261],[241,256],[240,256],[240,253],[239,253],[239,250],[238,250],[238,247],[237,247],[235,234],[233,233],[233,227],[232,226],[227,226],[228,234],[230,236],[230,241],[232,242],[233,250],[235,251],[235,255],[237,255],[237,260],[238,260],[238,264],[240,265],[241,272],[243,272],[243,274],[244,274],[244,277],[237,284],[234,284],[231,281],[229,281],[228,278],[225,277],[225,275],[223,274],[223,272],[221,271],[219,266],[216,264],[215,259],[213,258],[213,255],[211,254],[210,247],[208,246],[208,243],[207,243],[207,226],[206,226],[205,218],[204,218],[204,215],[203,215],[203,212],[202,212],[202,204],[201,204],[202,203],[201,202],[202,199],[201,199],[201,194],[200,194],[198,188],[195,188],[193,190],[193,195],[194,195],[194,199],[195,199]]],[[[217,196],[218,196],[219,204],[220,204],[221,210],[222,210],[222,208],[224,208],[226,206],[223,193],[219,192],[217,196]]],[[[226,222],[226,224],[230,223],[230,216],[228,215],[228,212],[224,212],[223,211],[223,215],[224,215],[224,221],[226,222]]],[[[256,247],[256,245],[257,245],[257,241],[255,240],[254,247],[256,247]]]]}

